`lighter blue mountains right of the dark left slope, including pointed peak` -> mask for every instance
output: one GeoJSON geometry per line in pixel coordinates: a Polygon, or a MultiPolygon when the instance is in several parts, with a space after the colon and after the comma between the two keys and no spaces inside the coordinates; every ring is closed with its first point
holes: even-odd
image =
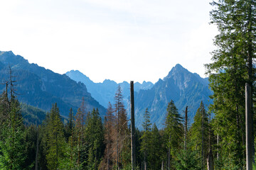
{"type": "MultiPolygon", "coordinates": [[[[121,86],[124,96],[124,104],[129,116],[129,84],[124,81],[117,84],[115,81],[106,79],[102,83],[94,83],[89,77],[78,70],[67,72],[71,79],[82,82],[87,86],[92,97],[99,101],[102,106],[107,107],[108,103],[114,103],[114,94],[117,86],[121,86]]],[[[156,84],[144,81],[134,84],[135,119],[138,128],[142,128],[143,115],[146,108],[151,113],[151,123],[156,123],[159,128],[164,128],[166,118],[166,108],[173,100],[178,111],[183,114],[188,106],[188,118],[193,122],[201,101],[206,105],[210,104],[209,96],[212,94],[208,89],[208,79],[201,78],[196,73],[191,73],[183,68],[181,64],[176,64],[164,79],[159,79],[156,84]]]]}

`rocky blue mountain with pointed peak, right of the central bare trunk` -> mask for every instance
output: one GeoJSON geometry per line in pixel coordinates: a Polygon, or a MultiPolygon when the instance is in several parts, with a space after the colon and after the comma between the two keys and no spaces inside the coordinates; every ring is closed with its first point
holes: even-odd
{"type": "Polygon", "coordinates": [[[208,106],[212,92],[208,89],[208,79],[201,78],[184,69],[180,64],[171,69],[163,80],[154,84],[153,88],[140,90],[135,94],[135,118],[137,127],[142,128],[143,114],[146,108],[151,113],[151,122],[159,128],[164,128],[166,108],[173,100],[179,113],[183,115],[188,106],[188,119],[190,124],[200,106],[201,101],[208,106]]]}

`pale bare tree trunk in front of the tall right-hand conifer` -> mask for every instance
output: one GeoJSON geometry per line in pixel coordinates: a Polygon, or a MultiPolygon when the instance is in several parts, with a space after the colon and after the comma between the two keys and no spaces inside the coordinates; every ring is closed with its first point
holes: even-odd
{"type": "Polygon", "coordinates": [[[250,84],[245,84],[245,133],[246,133],[246,169],[252,169],[252,97],[250,84]]]}

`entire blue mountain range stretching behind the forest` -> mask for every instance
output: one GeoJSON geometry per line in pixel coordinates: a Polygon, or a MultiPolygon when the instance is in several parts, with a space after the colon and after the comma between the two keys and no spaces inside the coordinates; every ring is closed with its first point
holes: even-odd
{"type": "MultiPolygon", "coordinates": [[[[18,94],[17,98],[22,103],[41,108],[43,111],[49,111],[52,104],[57,103],[60,114],[65,118],[70,108],[73,108],[74,113],[77,111],[84,98],[87,111],[98,108],[103,118],[108,103],[114,103],[117,86],[121,86],[129,117],[130,86],[127,81],[117,84],[115,81],[106,79],[102,83],[94,83],[78,70],[57,74],[37,64],[31,64],[11,51],[0,51],[1,92],[6,88],[6,81],[9,81],[9,68],[16,81],[14,88],[18,94]]],[[[188,117],[191,123],[201,101],[206,107],[212,102],[209,98],[212,91],[208,89],[208,79],[189,72],[180,64],[176,64],[164,79],[159,79],[155,84],[146,81],[142,84],[135,83],[134,91],[135,122],[139,129],[142,129],[146,108],[151,113],[151,123],[164,128],[166,107],[171,100],[174,101],[181,114],[188,106],[188,117]]],[[[30,115],[35,111],[35,109],[29,110],[28,108],[25,110],[29,111],[30,115]]],[[[41,111],[38,113],[42,115],[38,118],[43,118],[43,113],[41,111]]]]}

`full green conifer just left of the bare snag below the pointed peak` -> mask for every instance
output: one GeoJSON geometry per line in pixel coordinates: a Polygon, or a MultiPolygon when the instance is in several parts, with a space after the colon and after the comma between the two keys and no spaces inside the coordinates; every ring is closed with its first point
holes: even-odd
{"type": "Polygon", "coordinates": [[[174,101],[167,106],[167,115],[165,121],[166,144],[168,147],[168,169],[174,166],[176,153],[181,148],[183,141],[183,125],[181,115],[178,113],[174,101]]]}

